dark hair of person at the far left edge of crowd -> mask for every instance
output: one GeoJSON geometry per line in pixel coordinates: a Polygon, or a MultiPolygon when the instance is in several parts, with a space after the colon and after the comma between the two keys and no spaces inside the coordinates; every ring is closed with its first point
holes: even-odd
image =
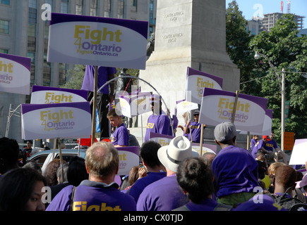
{"type": "MultiPolygon", "coordinates": [[[[0,139],[0,158],[5,159],[9,166],[18,164],[19,146],[15,139],[6,137],[0,139]]],[[[0,168],[0,173],[4,174],[7,168],[0,168]],[[2,171],[3,170],[3,171],[2,171]]]]}

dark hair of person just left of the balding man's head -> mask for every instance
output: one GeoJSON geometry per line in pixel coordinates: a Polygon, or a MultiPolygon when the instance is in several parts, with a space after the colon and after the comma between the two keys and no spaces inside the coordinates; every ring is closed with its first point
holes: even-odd
{"type": "Polygon", "coordinates": [[[85,168],[85,159],[75,156],[69,161],[67,172],[68,183],[78,186],[81,181],[88,179],[88,172],[85,168]]]}

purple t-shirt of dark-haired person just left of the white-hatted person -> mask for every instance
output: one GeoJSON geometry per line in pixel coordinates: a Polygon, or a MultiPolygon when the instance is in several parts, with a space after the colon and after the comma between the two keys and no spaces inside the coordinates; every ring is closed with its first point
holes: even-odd
{"type": "Polygon", "coordinates": [[[136,181],[136,183],[133,184],[133,186],[131,186],[130,191],[129,191],[129,195],[133,196],[133,198],[136,200],[136,202],[138,202],[138,197],[140,197],[140,193],[143,192],[143,190],[145,189],[145,187],[147,187],[148,185],[152,184],[153,182],[164,178],[165,176],[167,176],[166,172],[150,172],[147,174],[147,176],[138,179],[136,181]]]}

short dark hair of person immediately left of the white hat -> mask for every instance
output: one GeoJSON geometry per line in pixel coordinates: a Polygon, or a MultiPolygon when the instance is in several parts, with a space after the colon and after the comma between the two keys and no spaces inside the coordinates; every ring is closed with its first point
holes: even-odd
{"type": "Polygon", "coordinates": [[[161,145],[155,141],[146,141],[140,147],[140,157],[149,167],[159,167],[161,165],[157,155],[159,148],[161,148],[161,145]]]}

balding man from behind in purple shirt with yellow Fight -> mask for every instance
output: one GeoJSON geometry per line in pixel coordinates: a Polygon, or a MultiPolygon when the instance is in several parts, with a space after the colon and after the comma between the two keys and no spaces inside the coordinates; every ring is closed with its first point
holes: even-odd
{"type": "Polygon", "coordinates": [[[97,142],[86,151],[89,180],[62,189],[46,211],[135,211],[136,201],[114,182],[119,153],[112,143],[97,142]]]}

